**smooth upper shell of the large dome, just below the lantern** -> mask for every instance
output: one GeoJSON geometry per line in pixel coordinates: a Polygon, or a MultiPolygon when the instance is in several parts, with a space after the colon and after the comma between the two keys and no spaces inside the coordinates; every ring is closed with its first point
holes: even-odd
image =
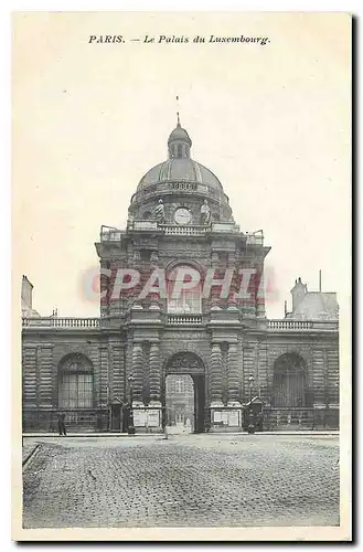
{"type": "Polygon", "coordinates": [[[222,190],[222,184],[213,172],[191,158],[172,158],[152,167],[140,180],[138,190],[158,182],[197,182],[222,190]]]}

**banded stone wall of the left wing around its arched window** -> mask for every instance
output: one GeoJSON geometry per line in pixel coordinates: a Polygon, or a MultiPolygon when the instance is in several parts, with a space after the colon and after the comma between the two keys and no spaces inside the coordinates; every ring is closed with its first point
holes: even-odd
{"type": "Polygon", "coordinates": [[[23,331],[23,431],[56,431],[60,363],[67,355],[82,354],[93,367],[93,408],[66,413],[68,426],[78,431],[107,431],[109,402],[126,400],[125,341],[120,336],[62,330],[41,333],[23,331]]]}

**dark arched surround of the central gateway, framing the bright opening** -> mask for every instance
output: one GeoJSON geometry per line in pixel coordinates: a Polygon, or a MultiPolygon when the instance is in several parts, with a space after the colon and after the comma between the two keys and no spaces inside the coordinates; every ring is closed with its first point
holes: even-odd
{"type": "Polygon", "coordinates": [[[193,352],[178,352],[170,357],[163,371],[163,406],[167,402],[167,376],[188,374],[194,385],[194,433],[205,431],[205,367],[197,354],[193,352]]]}

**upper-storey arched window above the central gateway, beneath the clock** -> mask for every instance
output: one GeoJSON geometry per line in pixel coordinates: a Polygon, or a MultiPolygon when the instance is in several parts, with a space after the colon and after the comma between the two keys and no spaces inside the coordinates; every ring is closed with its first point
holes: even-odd
{"type": "Polygon", "coordinates": [[[202,312],[200,273],[191,266],[177,266],[168,274],[168,312],[192,315],[202,312]]]}

